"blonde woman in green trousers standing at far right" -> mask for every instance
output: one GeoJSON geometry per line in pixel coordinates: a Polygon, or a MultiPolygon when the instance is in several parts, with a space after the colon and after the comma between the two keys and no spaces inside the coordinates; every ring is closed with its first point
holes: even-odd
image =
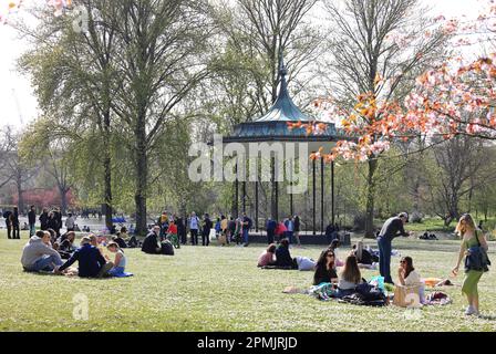
{"type": "MultiPolygon", "coordinates": [[[[455,231],[462,237],[462,246],[459,247],[458,261],[456,267],[453,268],[453,275],[458,274],[459,263],[464,257],[471,257],[472,253],[480,252],[484,250],[487,252],[488,246],[483,232],[475,227],[474,219],[469,214],[465,214],[458,221],[455,231]]],[[[486,256],[480,254],[484,258],[486,256]]],[[[466,264],[467,262],[465,262],[466,264]]],[[[465,279],[463,280],[462,292],[467,296],[468,308],[465,311],[466,315],[478,315],[479,302],[477,284],[484,274],[483,269],[465,269],[465,279]]],[[[487,264],[486,264],[487,267],[487,264]]]]}

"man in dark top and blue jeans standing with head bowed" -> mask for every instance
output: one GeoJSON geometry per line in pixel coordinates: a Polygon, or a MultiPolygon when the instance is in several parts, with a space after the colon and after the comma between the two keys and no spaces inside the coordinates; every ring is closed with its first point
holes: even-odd
{"type": "Polygon", "coordinates": [[[406,222],[409,222],[409,215],[406,212],[401,212],[397,217],[389,218],[379,232],[379,269],[381,277],[384,277],[384,282],[390,284],[394,284],[393,279],[391,278],[392,242],[393,239],[399,236],[410,236],[410,233],[406,233],[404,229],[404,225],[406,222]]]}

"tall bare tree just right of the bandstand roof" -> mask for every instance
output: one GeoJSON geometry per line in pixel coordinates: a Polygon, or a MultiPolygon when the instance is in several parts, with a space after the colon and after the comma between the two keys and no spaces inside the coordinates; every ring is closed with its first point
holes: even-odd
{"type": "MultiPolygon", "coordinates": [[[[327,0],[326,7],[332,31],[326,74],[332,100],[343,111],[350,112],[360,94],[400,101],[415,77],[444,54],[445,34],[425,34],[432,22],[417,0],[327,0]]],[[[372,126],[384,117],[359,118],[372,126]]],[[[378,159],[368,165],[365,236],[373,237],[378,159]]]]}

